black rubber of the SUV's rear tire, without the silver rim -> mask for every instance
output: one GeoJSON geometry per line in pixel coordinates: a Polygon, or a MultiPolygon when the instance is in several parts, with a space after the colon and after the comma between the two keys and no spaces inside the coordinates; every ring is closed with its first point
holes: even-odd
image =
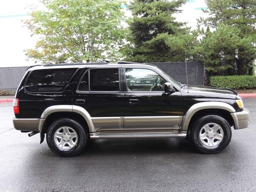
{"type": "Polygon", "coordinates": [[[82,152],[82,150],[84,150],[86,143],[88,141],[88,132],[79,122],[69,118],[60,118],[52,122],[52,124],[50,124],[48,131],[46,133],[46,141],[49,148],[55,154],[59,156],[64,156],[64,157],[75,156],[80,152],[82,152]],[[76,144],[74,144],[74,146],[71,149],[64,150],[60,148],[54,140],[55,132],[59,128],[64,126],[72,128],[77,134],[77,142],[76,144]]]}

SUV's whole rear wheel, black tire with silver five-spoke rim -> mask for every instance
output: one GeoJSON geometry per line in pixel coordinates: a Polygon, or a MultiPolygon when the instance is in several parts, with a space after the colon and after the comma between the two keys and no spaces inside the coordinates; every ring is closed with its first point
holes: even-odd
{"type": "Polygon", "coordinates": [[[88,141],[88,132],[79,122],[69,118],[60,118],[50,124],[46,133],[46,141],[55,154],[71,157],[84,150],[88,141]]]}

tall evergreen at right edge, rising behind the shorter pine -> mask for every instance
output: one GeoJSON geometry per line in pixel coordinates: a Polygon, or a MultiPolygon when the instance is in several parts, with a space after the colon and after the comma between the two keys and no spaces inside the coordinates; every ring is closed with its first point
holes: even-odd
{"type": "Polygon", "coordinates": [[[236,35],[244,39],[244,46],[236,48],[236,59],[239,74],[252,74],[252,62],[256,58],[255,52],[247,52],[248,42],[256,43],[256,1],[255,0],[206,0],[208,10],[204,12],[210,16],[201,18],[204,24],[216,28],[221,23],[238,29],[236,35]]]}

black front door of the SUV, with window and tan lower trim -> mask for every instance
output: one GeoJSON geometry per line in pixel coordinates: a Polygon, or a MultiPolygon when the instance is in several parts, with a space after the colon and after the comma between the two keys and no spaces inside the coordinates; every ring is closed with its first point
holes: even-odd
{"type": "Polygon", "coordinates": [[[164,92],[166,80],[150,69],[124,68],[124,128],[174,128],[182,123],[183,101],[178,90],[164,92]]]}

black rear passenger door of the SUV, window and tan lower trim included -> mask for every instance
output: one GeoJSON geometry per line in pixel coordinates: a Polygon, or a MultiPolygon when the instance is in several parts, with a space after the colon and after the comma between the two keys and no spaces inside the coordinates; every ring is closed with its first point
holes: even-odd
{"type": "Polygon", "coordinates": [[[123,128],[124,93],[120,79],[118,67],[85,69],[80,78],[73,104],[90,114],[96,130],[123,128]]]}

